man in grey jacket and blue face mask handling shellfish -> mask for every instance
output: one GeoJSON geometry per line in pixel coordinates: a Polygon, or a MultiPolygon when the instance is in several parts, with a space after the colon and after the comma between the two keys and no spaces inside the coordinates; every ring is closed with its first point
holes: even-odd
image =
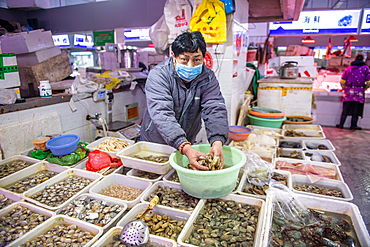
{"type": "Polygon", "coordinates": [[[203,118],[210,153],[223,164],[228,139],[227,111],[215,74],[204,65],[206,43],[200,32],[179,35],[171,57],[150,70],[145,91],[147,109],[141,126],[144,141],[170,145],[186,155],[195,170],[208,170],[197,160],[204,153],[191,143],[203,118]]]}

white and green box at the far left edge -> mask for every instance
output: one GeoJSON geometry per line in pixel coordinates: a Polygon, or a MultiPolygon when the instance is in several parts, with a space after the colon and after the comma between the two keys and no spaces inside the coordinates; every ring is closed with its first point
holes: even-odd
{"type": "Polygon", "coordinates": [[[0,88],[19,87],[20,85],[15,54],[0,54],[0,88]]]}

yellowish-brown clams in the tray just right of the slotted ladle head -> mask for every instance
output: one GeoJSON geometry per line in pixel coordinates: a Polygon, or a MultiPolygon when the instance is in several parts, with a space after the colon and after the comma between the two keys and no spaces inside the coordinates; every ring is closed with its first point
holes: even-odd
{"type": "MultiPolygon", "coordinates": [[[[141,215],[142,212],[139,214],[141,215]]],[[[171,219],[167,215],[152,214],[142,219],[149,228],[149,233],[177,241],[186,221],[171,219]]]]}

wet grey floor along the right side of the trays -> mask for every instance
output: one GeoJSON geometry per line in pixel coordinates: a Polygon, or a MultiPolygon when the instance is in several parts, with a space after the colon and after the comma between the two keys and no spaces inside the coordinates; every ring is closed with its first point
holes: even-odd
{"type": "Polygon", "coordinates": [[[326,138],[336,148],[340,171],[353,194],[370,231],[370,131],[324,127],[326,138]]]}

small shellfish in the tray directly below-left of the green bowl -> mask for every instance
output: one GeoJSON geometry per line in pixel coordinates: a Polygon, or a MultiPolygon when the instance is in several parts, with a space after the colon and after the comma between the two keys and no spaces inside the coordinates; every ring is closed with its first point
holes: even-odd
{"type": "Polygon", "coordinates": [[[161,193],[158,205],[163,205],[166,207],[192,211],[199,202],[198,198],[188,195],[181,189],[171,188],[163,185],[157,186],[156,190],[149,195],[147,201],[153,199],[158,193],[161,193]]]}

